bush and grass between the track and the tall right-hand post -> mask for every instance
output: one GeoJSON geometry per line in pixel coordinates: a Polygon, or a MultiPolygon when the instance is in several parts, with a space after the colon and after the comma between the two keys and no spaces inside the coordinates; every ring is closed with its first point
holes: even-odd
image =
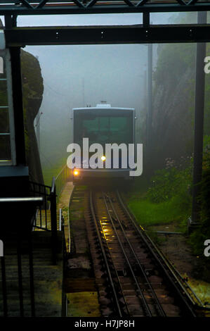
{"type": "Polygon", "coordinates": [[[145,192],[133,193],[129,207],[142,226],[176,223],[179,230],[186,230],[187,219],[191,213],[190,183],[192,163],[190,158],[176,165],[167,159],[166,168],[157,170],[150,187],[145,192]]]}

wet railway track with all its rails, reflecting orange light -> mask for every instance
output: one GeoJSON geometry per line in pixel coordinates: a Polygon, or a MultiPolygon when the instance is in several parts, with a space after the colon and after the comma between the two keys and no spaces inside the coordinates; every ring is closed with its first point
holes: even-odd
{"type": "Polygon", "coordinates": [[[190,294],[119,192],[88,192],[85,220],[102,316],[196,316],[190,294]]]}

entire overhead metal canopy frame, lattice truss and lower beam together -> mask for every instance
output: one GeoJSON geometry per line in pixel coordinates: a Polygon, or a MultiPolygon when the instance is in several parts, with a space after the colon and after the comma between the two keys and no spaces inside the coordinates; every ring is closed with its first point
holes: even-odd
{"type": "Polygon", "coordinates": [[[150,13],[210,11],[201,0],[1,0],[6,46],[209,42],[210,25],[150,25],[150,13]],[[143,13],[142,25],[17,27],[18,15],[143,13]]]}

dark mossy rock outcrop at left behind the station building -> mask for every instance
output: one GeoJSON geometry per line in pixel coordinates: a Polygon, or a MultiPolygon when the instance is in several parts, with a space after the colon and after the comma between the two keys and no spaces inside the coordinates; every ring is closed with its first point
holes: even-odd
{"type": "Polygon", "coordinates": [[[25,143],[30,180],[44,184],[41,170],[34,118],[39,112],[44,92],[43,78],[38,59],[21,50],[22,94],[25,120],[25,143]]]}

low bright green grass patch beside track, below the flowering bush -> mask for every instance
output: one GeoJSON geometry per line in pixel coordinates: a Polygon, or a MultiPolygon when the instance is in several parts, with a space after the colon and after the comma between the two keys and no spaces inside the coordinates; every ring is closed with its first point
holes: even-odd
{"type": "Polygon", "coordinates": [[[176,222],[179,224],[179,229],[184,231],[190,213],[189,206],[184,208],[180,196],[173,196],[170,200],[158,204],[134,196],[129,199],[128,205],[143,227],[176,222]]]}

